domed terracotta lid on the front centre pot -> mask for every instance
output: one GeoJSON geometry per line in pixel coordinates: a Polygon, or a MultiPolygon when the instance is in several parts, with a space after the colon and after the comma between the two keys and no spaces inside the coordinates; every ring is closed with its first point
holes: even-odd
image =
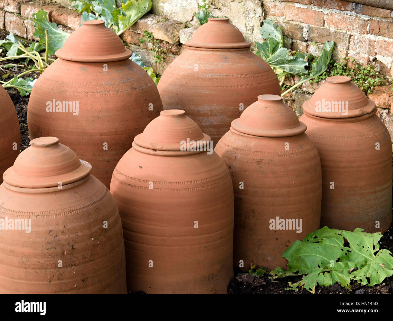
{"type": "Polygon", "coordinates": [[[143,133],[134,138],[138,146],[156,151],[184,151],[185,142],[210,141],[184,110],[168,109],[160,112],[143,133]]]}

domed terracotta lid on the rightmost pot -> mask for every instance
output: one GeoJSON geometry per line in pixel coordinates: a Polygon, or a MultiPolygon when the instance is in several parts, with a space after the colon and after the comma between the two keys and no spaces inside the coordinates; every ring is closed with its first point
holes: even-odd
{"type": "Polygon", "coordinates": [[[375,104],[351,77],[332,76],[303,104],[305,113],[323,118],[349,118],[371,113],[375,104]]]}

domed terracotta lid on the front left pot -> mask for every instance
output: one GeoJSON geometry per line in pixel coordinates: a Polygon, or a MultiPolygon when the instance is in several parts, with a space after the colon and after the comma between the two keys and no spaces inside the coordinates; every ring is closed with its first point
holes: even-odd
{"type": "Polygon", "coordinates": [[[23,188],[54,187],[59,182],[65,185],[79,181],[92,171],[88,162],[59,144],[56,137],[39,137],[31,140],[30,145],[4,172],[7,184],[23,188]]]}

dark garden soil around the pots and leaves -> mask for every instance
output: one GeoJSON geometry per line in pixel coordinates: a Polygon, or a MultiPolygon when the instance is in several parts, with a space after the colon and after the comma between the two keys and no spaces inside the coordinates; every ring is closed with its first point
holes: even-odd
{"type": "MultiPolygon", "coordinates": [[[[0,40],[5,39],[8,32],[0,30],[0,40]]],[[[5,57],[6,53],[2,52],[0,57],[5,57]]],[[[1,65],[18,63],[16,61],[6,60],[2,61],[1,65]]],[[[13,72],[10,68],[3,69],[0,67],[0,78],[3,81],[8,81],[13,78],[14,75],[22,73],[23,68],[18,68],[18,71],[13,72]]],[[[39,72],[29,73],[27,77],[38,78],[39,72]]],[[[20,150],[23,151],[29,147],[29,131],[27,126],[27,106],[29,102],[28,96],[20,96],[17,89],[7,88],[7,92],[11,97],[15,109],[17,111],[20,133],[21,133],[21,144],[20,150]]],[[[380,240],[380,248],[393,252],[393,226],[384,233],[380,240]]],[[[288,287],[288,282],[295,283],[299,281],[301,277],[286,277],[283,279],[277,279],[271,281],[268,276],[256,277],[240,270],[235,270],[235,278],[231,281],[228,286],[228,294],[311,294],[307,290],[285,290],[288,287]]],[[[141,293],[141,292],[140,292],[141,293]]],[[[355,283],[350,290],[339,286],[338,284],[331,285],[329,287],[317,286],[315,290],[316,294],[393,294],[393,276],[386,278],[380,285],[375,286],[362,286],[355,283]]]]}

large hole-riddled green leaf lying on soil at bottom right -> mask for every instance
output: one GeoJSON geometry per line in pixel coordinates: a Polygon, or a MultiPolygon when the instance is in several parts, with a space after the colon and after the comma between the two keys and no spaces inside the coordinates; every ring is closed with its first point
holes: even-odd
{"type": "Polygon", "coordinates": [[[314,293],[316,285],[329,286],[336,282],[350,288],[351,281],[376,285],[393,275],[393,256],[379,250],[380,233],[365,233],[329,229],[327,226],[295,241],[283,254],[288,270],[276,268],[275,277],[303,275],[292,289],[303,287],[314,293]],[[347,246],[346,243],[349,243],[347,246]]]}

